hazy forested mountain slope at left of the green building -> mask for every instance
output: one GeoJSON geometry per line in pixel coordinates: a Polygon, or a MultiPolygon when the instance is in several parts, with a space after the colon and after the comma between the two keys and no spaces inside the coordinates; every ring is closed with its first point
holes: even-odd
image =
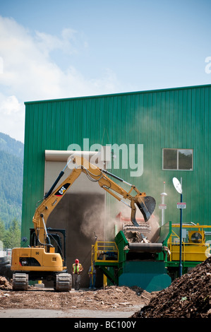
{"type": "Polygon", "coordinates": [[[0,219],[6,228],[21,221],[23,192],[23,143],[0,133],[0,219]]]}

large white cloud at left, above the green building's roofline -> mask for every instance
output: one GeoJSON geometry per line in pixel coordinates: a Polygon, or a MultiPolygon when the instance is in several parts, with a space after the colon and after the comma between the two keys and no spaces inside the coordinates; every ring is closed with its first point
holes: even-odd
{"type": "Polygon", "coordinates": [[[24,102],[116,92],[118,81],[109,69],[104,77],[85,78],[71,65],[63,71],[51,52],[77,54],[88,47],[72,29],[55,36],[36,31],[34,35],[13,18],[0,16],[0,131],[23,141],[24,102]]]}

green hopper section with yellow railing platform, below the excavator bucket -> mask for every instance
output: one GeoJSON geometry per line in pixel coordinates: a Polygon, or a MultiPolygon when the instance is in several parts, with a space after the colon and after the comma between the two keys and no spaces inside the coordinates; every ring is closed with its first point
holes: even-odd
{"type": "Polygon", "coordinates": [[[92,246],[92,263],[106,275],[111,285],[138,286],[152,292],[171,283],[167,274],[167,240],[169,225],[159,230],[157,243],[130,243],[121,230],[114,242],[96,242],[92,246]]]}

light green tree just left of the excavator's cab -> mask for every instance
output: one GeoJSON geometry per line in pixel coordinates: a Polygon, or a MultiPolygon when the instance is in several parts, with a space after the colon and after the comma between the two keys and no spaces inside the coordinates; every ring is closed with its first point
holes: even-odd
{"type": "Polygon", "coordinates": [[[20,223],[15,218],[11,222],[10,227],[6,230],[6,236],[4,241],[6,248],[20,247],[20,223]]]}

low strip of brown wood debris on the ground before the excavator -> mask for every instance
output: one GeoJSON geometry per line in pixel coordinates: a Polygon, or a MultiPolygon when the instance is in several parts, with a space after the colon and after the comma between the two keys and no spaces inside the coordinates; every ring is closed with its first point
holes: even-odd
{"type": "Polygon", "coordinates": [[[11,285],[0,288],[0,309],[88,309],[128,310],[150,301],[150,293],[139,287],[109,286],[98,290],[55,292],[29,287],[28,291],[13,291],[11,285]]]}

